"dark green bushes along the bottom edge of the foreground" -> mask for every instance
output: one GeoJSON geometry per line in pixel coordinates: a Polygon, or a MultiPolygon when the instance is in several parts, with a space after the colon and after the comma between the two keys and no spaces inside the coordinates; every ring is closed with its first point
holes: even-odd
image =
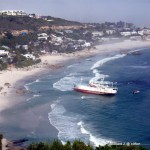
{"type": "Polygon", "coordinates": [[[59,140],[53,143],[34,143],[30,144],[27,150],[148,150],[142,146],[135,145],[105,145],[94,148],[92,145],[86,145],[80,140],[75,140],[73,143],[69,141],[63,145],[59,140]]]}

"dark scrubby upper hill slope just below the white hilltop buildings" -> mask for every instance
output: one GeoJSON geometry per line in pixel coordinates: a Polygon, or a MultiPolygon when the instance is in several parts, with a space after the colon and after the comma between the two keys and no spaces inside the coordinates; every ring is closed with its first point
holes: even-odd
{"type": "Polygon", "coordinates": [[[0,16],[0,32],[12,30],[33,30],[38,31],[43,26],[72,26],[81,25],[78,22],[67,21],[51,16],[40,19],[20,16],[0,16]],[[47,20],[45,20],[45,18],[47,20]]]}

